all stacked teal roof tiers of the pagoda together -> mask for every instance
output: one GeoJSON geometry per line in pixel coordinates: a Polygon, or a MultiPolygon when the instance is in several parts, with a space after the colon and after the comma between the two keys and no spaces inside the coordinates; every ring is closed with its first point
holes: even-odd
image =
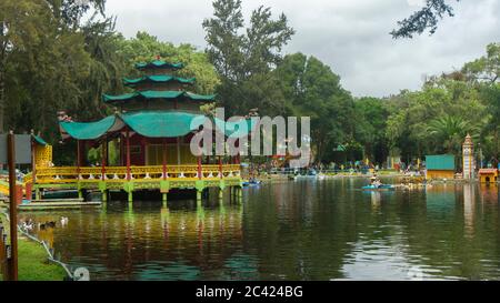
{"type": "MultiPolygon", "coordinates": [[[[74,122],[60,119],[59,125],[63,139],[99,140],[107,134],[118,133],[127,128],[146,138],[176,138],[197,131],[203,124],[204,114],[200,105],[214,101],[214,95],[190,92],[196,79],[181,78],[174,73],[182,63],[169,63],[154,60],[137,63],[142,72],[137,79],[123,79],[133,92],[120,95],[103,95],[107,104],[120,109],[114,114],[96,122],[74,122]]],[[[252,129],[240,130],[236,122],[224,122],[211,118],[217,129],[226,135],[246,135],[252,129]]]]}

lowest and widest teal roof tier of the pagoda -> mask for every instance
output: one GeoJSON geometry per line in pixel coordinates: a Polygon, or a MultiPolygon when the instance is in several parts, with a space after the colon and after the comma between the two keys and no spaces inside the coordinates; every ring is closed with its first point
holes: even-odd
{"type": "MultiPolygon", "coordinates": [[[[97,122],[59,122],[59,125],[63,138],[77,140],[96,140],[108,132],[120,131],[124,125],[148,138],[174,138],[198,130],[206,119],[212,118],[179,111],[139,111],[110,115],[97,122]]],[[[219,131],[223,130],[227,137],[233,138],[247,135],[256,127],[252,120],[246,120],[243,129],[239,129],[239,122],[224,122],[217,118],[213,120],[219,131]]]]}

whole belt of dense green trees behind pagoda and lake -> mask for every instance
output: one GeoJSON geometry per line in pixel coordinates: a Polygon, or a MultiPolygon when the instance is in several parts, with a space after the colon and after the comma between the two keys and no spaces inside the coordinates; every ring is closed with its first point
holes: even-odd
{"type": "MultiPolygon", "coordinates": [[[[76,147],[58,143],[57,111],[80,121],[112,113],[102,93],[126,92],[122,78],[137,75],[133,63],[157,57],[186,63],[181,75],[197,78],[198,93],[217,92],[227,114],[258,109],[261,115],[310,117],[314,162],[368,158],[381,164],[390,154],[404,162],[459,154],[467,133],[481,144],[483,159],[500,156],[499,43],[461,70],[428,79],[418,91],[353,98],[319,59],[282,54],[294,30],[269,8],[257,8],[246,22],[240,0],[216,0],[213,17],[201,24],[203,51],[146,32],[126,39],[106,16],[104,2],[0,2],[0,131],[40,131],[54,144],[58,163],[74,161],[76,147]],[[82,22],[91,7],[96,14],[82,22]]],[[[451,12],[444,1],[427,4],[426,13],[410,20],[413,26],[407,20],[393,33],[434,30],[432,18],[451,12]]],[[[97,161],[99,151],[90,158],[97,161]]]]}

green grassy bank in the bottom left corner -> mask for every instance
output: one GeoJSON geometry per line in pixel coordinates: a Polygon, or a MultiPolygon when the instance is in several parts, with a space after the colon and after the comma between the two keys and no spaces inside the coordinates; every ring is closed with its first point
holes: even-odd
{"type": "MultiPolygon", "coordinates": [[[[3,226],[9,224],[3,214],[0,214],[3,226]]],[[[64,270],[48,261],[48,254],[42,245],[24,236],[18,235],[18,266],[19,281],[62,281],[66,276],[64,270]]],[[[0,275],[0,281],[1,281],[0,275]]]]}

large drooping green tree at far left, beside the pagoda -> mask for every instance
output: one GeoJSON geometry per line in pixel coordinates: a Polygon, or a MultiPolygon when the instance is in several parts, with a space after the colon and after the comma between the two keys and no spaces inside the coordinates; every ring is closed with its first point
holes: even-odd
{"type": "Polygon", "coordinates": [[[78,100],[91,62],[80,18],[90,7],[103,14],[104,2],[0,2],[0,132],[8,124],[54,133],[56,111],[78,100]]]}

